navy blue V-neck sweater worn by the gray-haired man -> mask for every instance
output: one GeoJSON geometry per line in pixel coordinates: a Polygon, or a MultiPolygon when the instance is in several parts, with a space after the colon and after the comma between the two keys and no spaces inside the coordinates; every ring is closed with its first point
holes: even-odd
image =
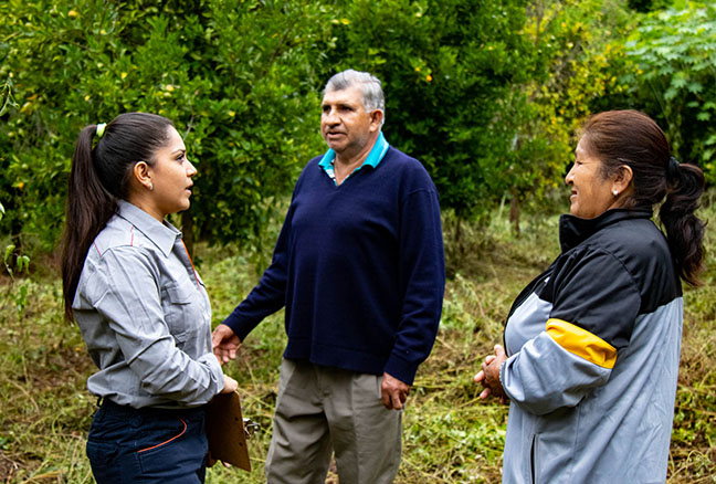
{"type": "Polygon", "coordinates": [[[394,148],[340,186],[319,160],[296,182],[271,266],[223,323],[243,341],[285,306],[285,358],[412,385],[445,287],[435,186],[394,148]]]}

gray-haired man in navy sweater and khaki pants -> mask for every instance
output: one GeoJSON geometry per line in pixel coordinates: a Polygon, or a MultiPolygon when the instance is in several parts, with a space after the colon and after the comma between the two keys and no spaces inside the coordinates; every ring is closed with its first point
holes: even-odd
{"type": "Polygon", "coordinates": [[[317,484],[331,450],[341,484],[393,481],[401,415],[438,332],[445,284],[438,192],[381,133],[380,81],[334,75],[322,103],[329,149],[312,159],[259,284],[214,330],[225,362],[285,306],[270,484],[317,484]]]}

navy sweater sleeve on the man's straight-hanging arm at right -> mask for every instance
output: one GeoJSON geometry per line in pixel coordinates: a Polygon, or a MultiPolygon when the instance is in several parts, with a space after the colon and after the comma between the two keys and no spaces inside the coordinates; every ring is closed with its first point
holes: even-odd
{"type": "Polygon", "coordinates": [[[400,278],[404,287],[401,318],[385,371],[412,385],[435,341],[445,291],[440,204],[434,188],[410,193],[402,204],[400,278]]]}

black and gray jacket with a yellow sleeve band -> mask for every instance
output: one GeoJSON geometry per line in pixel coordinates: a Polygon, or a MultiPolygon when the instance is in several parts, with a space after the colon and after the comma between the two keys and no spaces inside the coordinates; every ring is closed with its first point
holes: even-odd
{"type": "Polygon", "coordinates": [[[561,254],[505,326],[503,483],[663,483],[683,298],[645,210],[560,219],[561,254]]]}

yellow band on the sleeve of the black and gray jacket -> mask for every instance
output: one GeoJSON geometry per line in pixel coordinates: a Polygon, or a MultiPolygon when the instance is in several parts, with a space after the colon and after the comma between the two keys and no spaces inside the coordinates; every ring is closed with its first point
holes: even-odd
{"type": "Polygon", "coordinates": [[[572,355],[602,368],[614,368],[617,348],[587,329],[566,320],[551,318],[547,322],[547,334],[572,355]]]}

